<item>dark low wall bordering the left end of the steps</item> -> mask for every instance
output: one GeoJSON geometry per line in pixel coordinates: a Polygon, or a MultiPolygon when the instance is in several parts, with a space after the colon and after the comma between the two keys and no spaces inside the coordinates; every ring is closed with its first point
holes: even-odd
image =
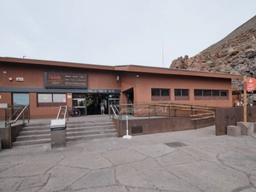
{"type": "MultiPolygon", "coordinates": [[[[19,136],[20,131],[25,124],[12,126],[12,143],[16,141],[16,137],[19,136]]],[[[10,148],[9,146],[9,128],[0,128],[0,138],[2,142],[2,148],[10,148]]]]}

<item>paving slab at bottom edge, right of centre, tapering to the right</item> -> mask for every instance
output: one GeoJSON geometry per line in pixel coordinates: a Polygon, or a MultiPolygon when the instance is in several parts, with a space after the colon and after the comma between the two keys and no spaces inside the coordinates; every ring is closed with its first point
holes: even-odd
{"type": "Polygon", "coordinates": [[[120,184],[128,187],[184,192],[199,191],[189,183],[178,179],[172,173],[166,172],[152,158],[117,166],[116,179],[120,184]]]}

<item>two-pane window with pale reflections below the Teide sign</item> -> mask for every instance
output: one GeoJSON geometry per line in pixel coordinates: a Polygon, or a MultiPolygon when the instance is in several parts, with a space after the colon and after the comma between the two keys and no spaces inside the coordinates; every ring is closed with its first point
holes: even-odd
{"type": "Polygon", "coordinates": [[[67,105],[66,94],[38,94],[38,107],[60,107],[67,105]]]}

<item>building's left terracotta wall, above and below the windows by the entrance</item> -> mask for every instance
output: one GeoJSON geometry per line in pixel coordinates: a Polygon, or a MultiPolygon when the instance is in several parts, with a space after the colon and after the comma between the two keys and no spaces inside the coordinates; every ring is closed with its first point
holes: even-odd
{"type": "MultiPolygon", "coordinates": [[[[32,66],[24,64],[10,64],[6,66],[0,65],[0,95],[1,103],[9,103],[12,105],[12,94],[9,92],[1,92],[1,87],[24,87],[24,88],[44,88],[44,72],[64,72],[64,73],[87,73],[88,89],[120,89],[120,81],[116,81],[117,75],[119,73],[93,70],[93,69],[79,69],[72,67],[44,67],[44,66],[32,66]],[[4,73],[3,73],[4,72],[4,73]],[[9,77],[14,80],[9,81],[9,77]],[[17,82],[16,78],[23,78],[23,82],[17,82]]],[[[81,90],[80,93],[83,93],[81,90]]],[[[55,93],[50,91],[49,93],[55,93]]],[[[31,92],[29,94],[31,118],[52,118],[55,117],[59,111],[59,107],[51,108],[38,108],[37,107],[37,94],[36,92],[31,92]]],[[[67,92],[67,106],[72,107],[72,93],[67,92]]],[[[1,117],[1,115],[0,115],[1,117]]]]}

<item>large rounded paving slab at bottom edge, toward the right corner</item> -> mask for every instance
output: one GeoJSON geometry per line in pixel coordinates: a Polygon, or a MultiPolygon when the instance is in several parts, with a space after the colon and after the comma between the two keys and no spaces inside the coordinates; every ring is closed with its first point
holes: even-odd
{"type": "Polygon", "coordinates": [[[169,172],[188,183],[198,186],[201,191],[233,191],[241,186],[250,185],[245,173],[236,171],[229,166],[207,161],[167,166],[169,172]]]}

